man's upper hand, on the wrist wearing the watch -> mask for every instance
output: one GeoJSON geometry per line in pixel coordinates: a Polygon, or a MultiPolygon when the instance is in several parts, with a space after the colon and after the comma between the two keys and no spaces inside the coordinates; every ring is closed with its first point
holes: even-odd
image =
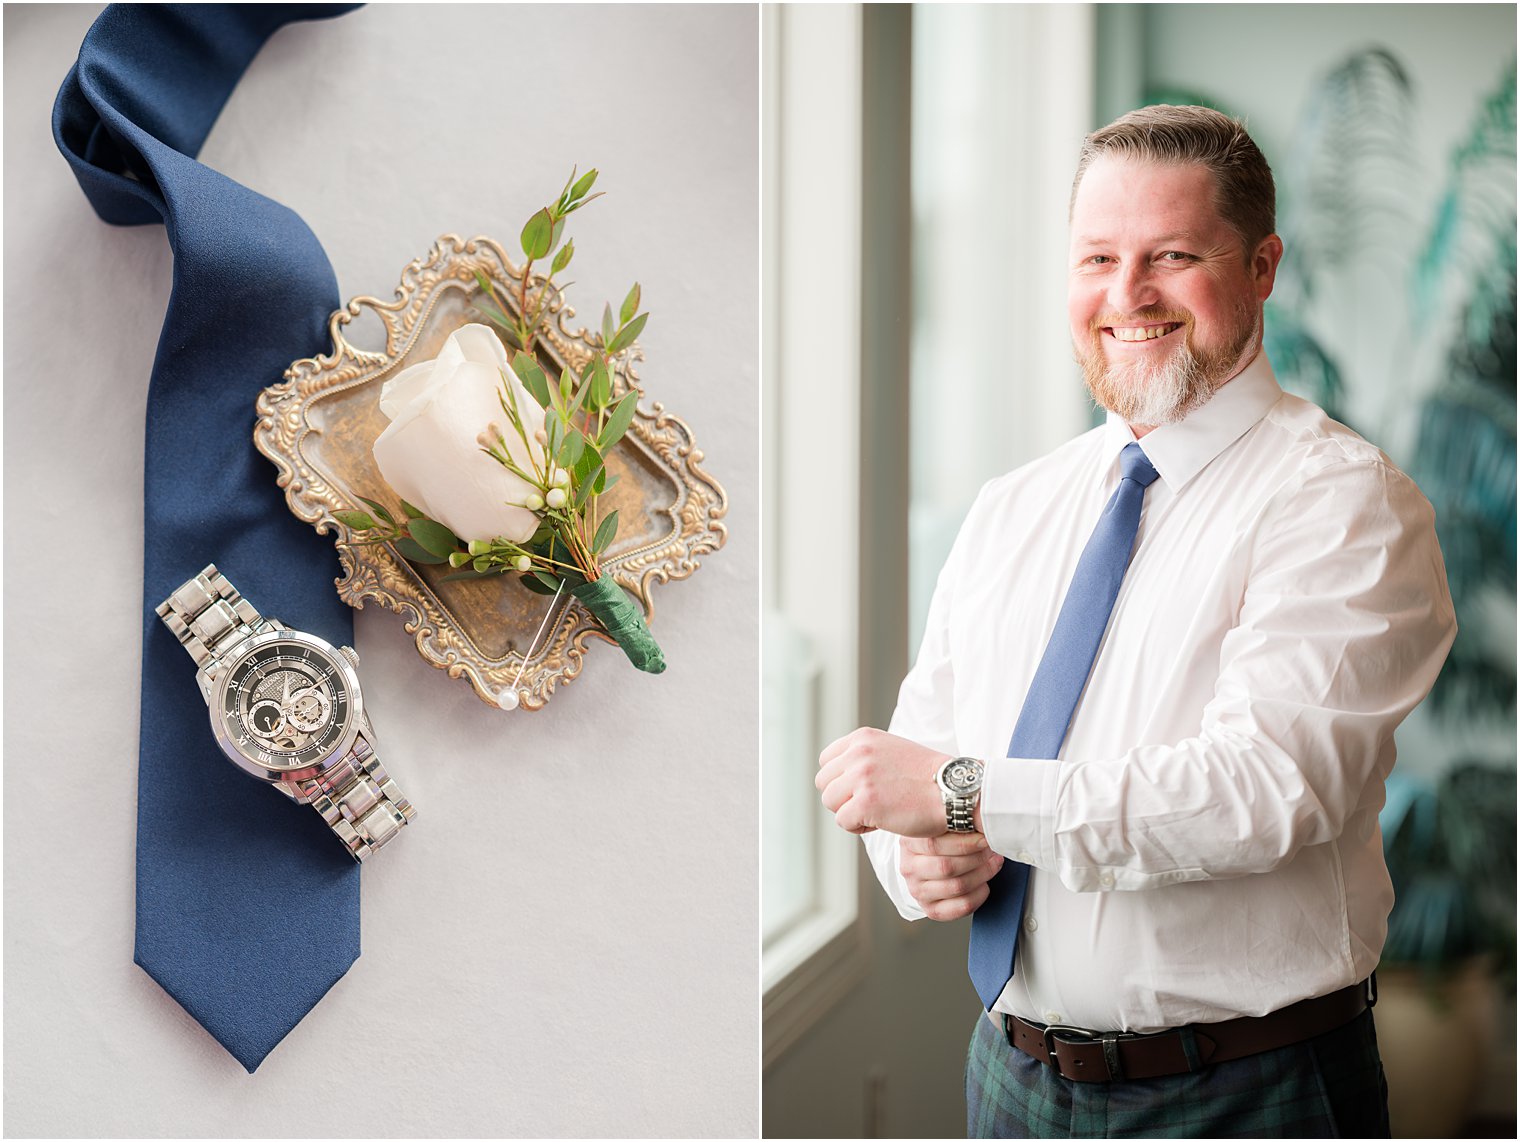
{"type": "Polygon", "coordinates": [[[847,733],[818,754],[813,785],[834,823],[851,833],[886,829],[903,836],[947,832],[935,771],[950,754],[882,730],[847,733]]]}

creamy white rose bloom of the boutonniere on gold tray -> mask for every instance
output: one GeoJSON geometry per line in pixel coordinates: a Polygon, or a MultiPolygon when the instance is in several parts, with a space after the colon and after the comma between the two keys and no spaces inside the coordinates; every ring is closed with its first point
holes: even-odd
{"type": "Polygon", "coordinates": [[[401,499],[465,541],[521,543],[538,529],[538,517],[521,506],[538,488],[480,452],[479,436],[494,424],[517,465],[534,471],[527,447],[502,411],[503,373],[508,400],[515,398],[532,436],[543,427],[544,411],[512,373],[488,325],[465,325],[436,359],[403,370],[380,389],[380,411],[391,420],[374,444],[380,474],[401,499]]]}

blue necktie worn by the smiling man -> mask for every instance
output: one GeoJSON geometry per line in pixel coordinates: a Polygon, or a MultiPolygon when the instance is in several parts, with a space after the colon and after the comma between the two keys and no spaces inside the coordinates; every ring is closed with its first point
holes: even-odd
{"type": "MultiPolygon", "coordinates": [[[[1119,487],[1104,506],[1082,558],[1076,561],[1050,642],[1029,683],[1024,707],[1008,744],[1009,757],[1055,757],[1061,753],[1076,701],[1093,671],[1108,616],[1119,598],[1119,584],[1134,552],[1145,490],[1155,481],[1155,468],[1138,444],[1128,444],[1119,453],[1119,487]]],[[[988,887],[986,900],[971,915],[967,969],[982,1007],[991,1011],[1014,975],[1029,865],[1005,861],[988,887]]]]}

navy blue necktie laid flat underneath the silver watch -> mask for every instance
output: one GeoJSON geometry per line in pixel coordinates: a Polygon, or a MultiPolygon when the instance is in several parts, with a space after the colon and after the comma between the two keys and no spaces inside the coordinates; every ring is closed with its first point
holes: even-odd
{"type": "Polygon", "coordinates": [[[214,561],[264,614],[351,642],[331,547],[252,447],[258,391],[327,350],[337,281],[299,217],[195,155],[278,27],[348,8],[114,5],[53,106],[96,213],[163,222],[175,255],[147,392],[135,958],[249,1072],[359,956],[359,865],[220,754],[154,607],[214,561]]]}

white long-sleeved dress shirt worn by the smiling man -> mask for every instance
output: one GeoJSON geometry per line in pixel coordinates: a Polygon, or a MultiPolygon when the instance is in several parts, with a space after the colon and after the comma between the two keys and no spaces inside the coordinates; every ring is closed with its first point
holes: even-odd
{"type": "MultiPolygon", "coordinates": [[[[1377,966],[1394,728],[1456,633],[1420,490],[1259,354],[1142,439],[1160,479],[1061,756],[1005,757],[1132,439],[1110,417],[982,488],[889,727],[986,760],[988,844],[1032,865],[997,1010],[1107,1031],[1259,1016],[1377,966]]],[[[866,847],[923,917],[897,838],[866,847]]]]}

